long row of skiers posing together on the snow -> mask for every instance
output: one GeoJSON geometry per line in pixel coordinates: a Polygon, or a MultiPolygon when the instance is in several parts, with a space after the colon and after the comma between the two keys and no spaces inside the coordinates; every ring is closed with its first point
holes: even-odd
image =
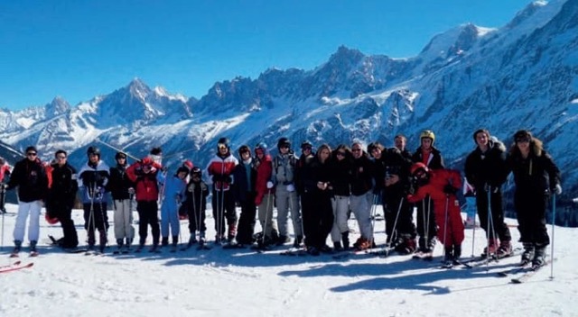
{"type": "MultiPolygon", "coordinates": [[[[139,215],[137,250],[144,247],[148,226],[153,234],[153,251],[168,245],[169,238],[172,248],[176,248],[180,214],[189,219],[191,238],[187,246],[198,242],[202,245],[207,239],[205,211],[211,191],[215,241],[227,248],[253,245],[269,249],[284,245],[291,241],[288,228],[291,219],[293,247],[300,248],[303,244],[311,255],[350,248],[370,249],[375,246],[375,206],[382,204],[387,249],[431,257],[436,241],[440,241],[445,261],[457,261],[464,239],[456,195],[462,186],[461,175],[457,170],[445,168],[440,150],[433,146],[433,131],[423,131],[419,138],[420,146],[414,153],[406,149],[403,135],[395,137],[395,146],[391,148],[372,142],[364,149],[361,142],[354,141],[335,149],[322,144],[314,150],[311,142],[304,141],[299,157],[287,138],[277,141],[273,157],[263,142],[252,148],[242,145],[235,156],[230,140],[221,138],[205,169],[210,186],[202,180],[201,169],[191,162],[172,175],[167,173],[159,148],[130,166],[126,153],[119,151],[116,166],[108,168],[98,148],[90,147],[88,161],[77,173],[66,162],[66,151],[57,151],[55,161],[44,168],[36,149],[29,147],[26,158],[15,165],[5,185],[8,190],[18,186],[14,254],[22,248],[28,214],[30,249],[36,252],[42,201],[47,220],[61,222],[64,235],[59,241],[61,246],[76,248],[79,241],[70,215],[79,189],[89,249],[95,248],[97,236],[100,251],[107,245],[108,192],[114,205],[119,251],[128,250],[135,238],[133,196],[139,215]],[[354,243],[350,243],[348,224],[351,213],[359,226],[359,237],[354,243]],[[262,228],[259,234],[255,233],[256,219],[262,228]],[[327,245],[328,239],[331,247],[327,245]]],[[[562,192],[560,172],[553,159],[542,142],[525,130],[514,134],[509,151],[487,130],[475,131],[473,140],[476,149],[468,155],[464,172],[476,195],[481,228],[487,233],[488,245],[483,253],[499,258],[512,254],[501,194],[501,187],[512,172],[518,229],[525,250],[522,260],[544,265],[545,247],[549,244],[545,210],[549,196],[562,192]]]]}

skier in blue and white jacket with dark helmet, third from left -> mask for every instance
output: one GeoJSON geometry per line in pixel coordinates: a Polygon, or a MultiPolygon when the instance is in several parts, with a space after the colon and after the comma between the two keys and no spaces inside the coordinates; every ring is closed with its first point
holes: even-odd
{"type": "Polygon", "coordinates": [[[89,235],[89,250],[96,243],[95,231],[98,230],[100,253],[107,246],[108,215],[105,190],[110,174],[107,164],[100,159],[100,149],[87,149],[89,160],[79,170],[79,188],[82,189],[82,206],[84,209],[84,229],[89,235]]]}

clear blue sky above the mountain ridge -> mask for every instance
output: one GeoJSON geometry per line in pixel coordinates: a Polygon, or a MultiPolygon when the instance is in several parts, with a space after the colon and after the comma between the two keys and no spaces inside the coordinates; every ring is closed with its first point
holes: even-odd
{"type": "Polygon", "coordinates": [[[340,45],[417,55],[462,23],[500,27],[523,0],[0,1],[0,107],[75,105],[139,77],[205,95],[266,68],[312,69],[340,45]]]}

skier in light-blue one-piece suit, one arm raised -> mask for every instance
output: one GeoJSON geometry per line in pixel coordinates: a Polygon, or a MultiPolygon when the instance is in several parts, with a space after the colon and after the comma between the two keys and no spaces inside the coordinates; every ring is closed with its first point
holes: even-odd
{"type": "Polygon", "coordinates": [[[169,229],[172,233],[172,251],[175,251],[179,243],[181,224],[179,222],[179,207],[184,198],[184,190],[187,186],[184,178],[189,174],[189,169],[178,168],[172,177],[164,177],[163,173],[157,175],[159,184],[164,186],[161,196],[161,246],[169,245],[169,229]]]}

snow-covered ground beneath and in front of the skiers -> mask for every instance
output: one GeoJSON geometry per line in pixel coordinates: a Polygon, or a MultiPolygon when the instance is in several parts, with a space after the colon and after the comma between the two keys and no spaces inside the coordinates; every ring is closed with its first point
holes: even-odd
{"type": "MultiPolygon", "coordinates": [[[[8,253],[16,208],[7,205],[0,265],[14,261],[8,253]]],[[[81,212],[73,215],[84,241],[81,212]]],[[[212,228],[209,217],[207,225],[212,228]]],[[[384,222],[377,222],[378,245],[385,241],[383,229],[384,222]]],[[[517,240],[517,229],[510,229],[517,240]]],[[[188,240],[186,221],[182,230],[188,240]]],[[[466,230],[464,258],[471,255],[472,233],[466,230]]],[[[53,249],[48,234],[60,237],[61,228],[42,219],[41,256],[20,257],[34,266],[0,274],[0,316],[578,316],[573,228],[555,227],[554,278],[545,267],[521,285],[495,274],[518,256],[490,264],[489,271],[440,269],[439,244],[433,262],[397,255],[281,257],[281,249],[259,254],[219,247],[101,257],[53,249]]],[[[108,238],[114,240],[112,226],[108,238]]],[[[486,243],[480,229],[475,242],[480,253],[486,243]]]]}

